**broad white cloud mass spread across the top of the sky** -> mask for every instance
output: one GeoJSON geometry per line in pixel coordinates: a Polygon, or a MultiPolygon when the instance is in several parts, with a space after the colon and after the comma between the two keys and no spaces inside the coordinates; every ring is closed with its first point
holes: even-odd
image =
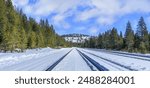
{"type": "Polygon", "coordinates": [[[29,0],[13,0],[13,3],[35,18],[53,15],[52,21],[66,29],[71,26],[66,21],[71,16],[75,22],[95,18],[97,24],[111,25],[127,14],[150,13],[150,0],[38,0],[35,4],[29,4],[29,0]]]}

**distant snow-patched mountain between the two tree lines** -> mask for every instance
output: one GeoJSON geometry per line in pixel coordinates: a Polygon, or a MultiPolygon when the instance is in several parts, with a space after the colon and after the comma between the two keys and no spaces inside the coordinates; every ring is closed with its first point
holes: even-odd
{"type": "Polygon", "coordinates": [[[85,34],[66,34],[62,35],[62,37],[72,43],[84,43],[85,40],[89,40],[91,36],[85,34]]]}

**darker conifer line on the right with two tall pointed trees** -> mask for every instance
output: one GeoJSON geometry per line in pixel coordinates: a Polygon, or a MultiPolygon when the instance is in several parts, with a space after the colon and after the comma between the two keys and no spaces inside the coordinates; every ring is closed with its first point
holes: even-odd
{"type": "Polygon", "coordinates": [[[144,18],[141,17],[135,32],[128,21],[124,36],[122,32],[118,33],[117,28],[114,27],[105,33],[100,33],[98,37],[90,38],[83,44],[83,47],[149,53],[149,45],[150,34],[144,18]]]}

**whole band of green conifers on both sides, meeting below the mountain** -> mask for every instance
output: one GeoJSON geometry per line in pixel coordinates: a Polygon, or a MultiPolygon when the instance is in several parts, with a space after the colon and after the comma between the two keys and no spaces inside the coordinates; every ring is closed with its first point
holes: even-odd
{"type": "Polygon", "coordinates": [[[15,10],[11,0],[0,0],[0,51],[77,46],[147,53],[150,51],[149,45],[150,34],[143,17],[138,22],[135,34],[131,23],[128,22],[124,36],[122,32],[119,34],[116,28],[112,28],[98,37],[91,37],[84,44],[74,44],[66,42],[56,34],[48,20],[37,23],[33,18],[28,18],[22,10],[15,10]]]}

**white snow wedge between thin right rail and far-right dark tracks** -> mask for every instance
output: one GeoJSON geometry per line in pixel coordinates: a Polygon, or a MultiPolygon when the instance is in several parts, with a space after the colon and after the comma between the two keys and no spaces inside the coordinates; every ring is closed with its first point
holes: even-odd
{"type": "MultiPolygon", "coordinates": [[[[136,69],[136,70],[140,70],[140,71],[143,71],[143,70],[149,71],[150,70],[150,61],[144,61],[144,60],[140,60],[140,59],[138,60],[138,59],[133,59],[133,58],[129,58],[129,57],[117,56],[117,55],[114,55],[111,53],[94,51],[94,50],[85,50],[85,51],[96,54],[96,55],[106,58],[108,60],[112,60],[117,63],[123,64],[132,69],[136,69]]],[[[114,69],[110,69],[110,70],[114,70],[114,69]]]]}

